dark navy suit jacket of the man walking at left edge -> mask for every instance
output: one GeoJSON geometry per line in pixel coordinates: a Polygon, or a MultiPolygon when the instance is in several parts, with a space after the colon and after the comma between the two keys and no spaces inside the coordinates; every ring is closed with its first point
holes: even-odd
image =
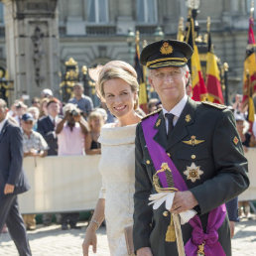
{"type": "Polygon", "coordinates": [[[30,187],[22,168],[23,137],[20,127],[6,121],[0,134],[0,196],[6,184],[14,185],[14,194],[30,187]]]}

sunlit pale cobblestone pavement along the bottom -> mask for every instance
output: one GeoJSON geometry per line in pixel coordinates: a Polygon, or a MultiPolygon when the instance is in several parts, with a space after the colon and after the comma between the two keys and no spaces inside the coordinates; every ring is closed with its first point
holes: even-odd
{"type": "MultiPolygon", "coordinates": [[[[82,255],[81,243],[86,229],[86,222],[79,222],[81,229],[63,231],[61,225],[38,226],[35,231],[28,231],[32,253],[35,256],[72,256],[82,255]]],[[[109,255],[106,230],[100,227],[97,253],[91,255],[109,255]]],[[[256,218],[243,220],[236,224],[232,239],[233,256],[256,255],[256,218]]],[[[0,255],[17,256],[15,245],[9,234],[0,236],[0,255]]]]}

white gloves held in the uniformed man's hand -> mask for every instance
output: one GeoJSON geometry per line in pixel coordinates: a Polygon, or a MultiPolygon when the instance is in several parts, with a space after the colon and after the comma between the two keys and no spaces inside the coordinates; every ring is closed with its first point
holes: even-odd
{"type": "MultiPolygon", "coordinates": [[[[175,192],[158,192],[150,194],[149,196],[149,205],[153,204],[153,209],[158,209],[160,205],[166,201],[166,209],[170,210],[173,205],[175,197],[175,192]]],[[[189,209],[180,213],[181,216],[181,224],[189,222],[189,220],[196,214],[196,211],[193,209],[189,209]]]]}

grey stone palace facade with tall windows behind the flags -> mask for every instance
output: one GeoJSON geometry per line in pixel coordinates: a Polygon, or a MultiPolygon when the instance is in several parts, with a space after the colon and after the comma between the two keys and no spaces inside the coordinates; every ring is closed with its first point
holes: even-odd
{"type": "MultiPolygon", "coordinates": [[[[44,2],[27,0],[27,2],[44,2]]],[[[131,31],[139,31],[141,42],[159,39],[161,27],[165,39],[176,39],[179,19],[188,15],[186,0],[59,0],[59,69],[72,57],[81,67],[104,64],[110,60],[133,63],[131,31]],[[129,33],[130,32],[130,33],[129,33]]],[[[247,45],[249,0],[200,1],[197,20],[206,31],[211,18],[211,38],[216,55],[229,64],[228,84],[232,96],[242,90],[242,72],[247,45]]],[[[3,7],[0,5],[0,64],[6,66],[3,7]]],[[[7,43],[7,42],[6,42],[7,43]]],[[[141,46],[142,47],[142,46],[141,46]]],[[[55,80],[57,82],[57,80],[55,80]]],[[[29,85],[28,85],[29,86],[29,85]]],[[[45,85],[44,85],[45,86],[45,85]]],[[[56,89],[58,84],[54,85],[56,89]]],[[[28,93],[35,95],[33,90],[28,93]]]]}

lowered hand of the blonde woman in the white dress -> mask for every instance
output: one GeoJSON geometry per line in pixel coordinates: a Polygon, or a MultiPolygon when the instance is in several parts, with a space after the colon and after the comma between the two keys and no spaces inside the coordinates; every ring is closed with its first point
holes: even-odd
{"type": "Polygon", "coordinates": [[[92,245],[93,253],[97,252],[97,235],[96,229],[93,226],[93,222],[89,224],[87,230],[85,232],[85,237],[82,243],[82,252],[83,256],[88,256],[89,254],[89,246],[92,245]]]}

